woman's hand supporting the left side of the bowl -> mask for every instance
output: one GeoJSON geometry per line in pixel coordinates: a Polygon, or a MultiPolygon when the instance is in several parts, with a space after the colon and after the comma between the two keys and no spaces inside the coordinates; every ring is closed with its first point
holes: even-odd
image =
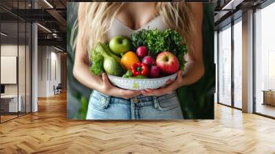
{"type": "Polygon", "coordinates": [[[119,97],[119,98],[124,98],[124,99],[133,98],[133,97],[139,96],[141,94],[140,91],[120,89],[118,87],[111,85],[111,83],[109,82],[109,79],[107,77],[107,74],[105,74],[105,73],[102,74],[102,80],[103,80],[103,85],[100,88],[100,92],[102,92],[103,94],[107,94],[109,96],[115,96],[115,97],[119,97]]]}

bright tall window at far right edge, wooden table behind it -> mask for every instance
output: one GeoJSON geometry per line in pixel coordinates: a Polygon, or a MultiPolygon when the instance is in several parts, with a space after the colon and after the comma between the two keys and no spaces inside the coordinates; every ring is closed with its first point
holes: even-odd
{"type": "Polygon", "coordinates": [[[255,12],[256,113],[275,117],[275,3],[255,12]]]}

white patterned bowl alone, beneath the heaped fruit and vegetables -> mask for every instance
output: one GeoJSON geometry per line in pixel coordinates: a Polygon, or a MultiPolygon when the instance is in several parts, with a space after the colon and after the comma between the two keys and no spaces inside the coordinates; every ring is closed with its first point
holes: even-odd
{"type": "Polygon", "coordinates": [[[122,78],[108,74],[113,85],[129,90],[157,89],[164,86],[167,80],[175,80],[176,77],[177,73],[162,78],[122,78]]]}

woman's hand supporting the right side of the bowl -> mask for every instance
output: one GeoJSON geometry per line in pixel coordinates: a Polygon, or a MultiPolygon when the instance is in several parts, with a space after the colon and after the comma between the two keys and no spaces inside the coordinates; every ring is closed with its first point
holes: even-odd
{"type": "Polygon", "coordinates": [[[178,87],[181,87],[183,80],[184,78],[182,78],[182,71],[179,70],[177,72],[176,80],[174,80],[172,83],[170,83],[170,81],[166,83],[166,85],[169,84],[168,86],[160,89],[145,89],[142,90],[141,93],[144,96],[162,96],[164,94],[170,94],[171,92],[175,91],[175,89],[177,89],[178,87]]]}

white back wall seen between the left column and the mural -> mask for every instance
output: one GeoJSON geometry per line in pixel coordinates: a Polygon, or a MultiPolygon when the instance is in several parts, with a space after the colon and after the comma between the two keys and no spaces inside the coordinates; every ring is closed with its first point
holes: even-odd
{"type": "Polygon", "coordinates": [[[38,58],[38,96],[53,96],[54,86],[61,83],[61,54],[53,47],[39,46],[38,58]]]}

